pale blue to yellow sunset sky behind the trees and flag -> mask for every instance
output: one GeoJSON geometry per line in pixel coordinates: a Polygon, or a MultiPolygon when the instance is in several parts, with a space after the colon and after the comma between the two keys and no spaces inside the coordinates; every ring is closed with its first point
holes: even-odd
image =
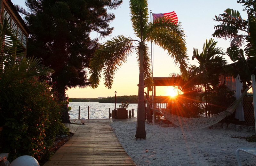
{"type": "MultiPolygon", "coordinates": [[[[127,35],[136,39],[130,20],[129,0],[123,0],[123,4],[116,10],[111,10],[115,14],[115,19],[110,23],[114,27],[112,34],[100,42],[109,40],[117,35],[127,35]]],[[[13,4],[19,4],[25,7],[24,1],[12,0],[13,4]]],[[[206,39],[213,38],[214,26],[218,22],[213,21],[215,15],[224,13],[224,10],[231,8],[240,12],[243,19],[247,19],[247,13],[243,11],[243,4],[238,4],[236,0],[148,0],[148,16],[150,21],[150,10],[152,13],[167,13],[175,11],[182,28],[186,31],[186,46],[189,57],[188,64],[197,64],[196,60],[192,61],[193,48],[202,51],[203,44],[206,39]]],[[[91,37],[97,37],[96,33],[92,33],[91,37]]],[[[217,46],[227,49],[230,46],[229,40],[213,38],[218,41],[217,46]]],[[[150,46],[150,44],[149,44],[150,46]]],[[[180,73],[179,66],[175,66],[173,59],[168,55],[167,51],[153,44],[153,76],[168,77],[170,73],[180,73]]],[[[92,89],[86,88],[71,88],[66,94],[68,97],[74,98],[97,98],[123,95],[138,95],[139,83],[139,67],[136,54],[132,53],[126,63],[116,72],[113,86],[108,89],[104,85],[103,79],[100,81],[99,87],[92,89]]],[[[229,57],[224,56],[230,63],[229,57]]],[[[103,75],[102,75],[103,76],[103,75]]],[[[156,96],[169,95],[171,87],[156,87],[156,96]]],[[[147,91],[147,88],[145,88],[147,91]]],[[[151,95],[151,92],[149,93],[151,95]]]]}

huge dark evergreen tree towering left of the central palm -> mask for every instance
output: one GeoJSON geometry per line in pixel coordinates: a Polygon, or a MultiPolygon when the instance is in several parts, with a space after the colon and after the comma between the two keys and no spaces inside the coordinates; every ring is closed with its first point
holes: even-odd
{"type": "MultiPolygon", "coordinates": [[[[16,6],[25,15],[31,31],[28,38],[28,57],[42,57],[44,65],[55,70],[49,81],[57,82],[54,91],[60,101],[71,87],[90,85],[86,68],[98,39],[91,39],[95,31],[101,37],[111,34],[109,22],[115,19],[108,9],[116,9],[122,0],[26,0],[28,10],[16,6]]],[[[70,122],[68,109],[63,122],[70,122]]]]}

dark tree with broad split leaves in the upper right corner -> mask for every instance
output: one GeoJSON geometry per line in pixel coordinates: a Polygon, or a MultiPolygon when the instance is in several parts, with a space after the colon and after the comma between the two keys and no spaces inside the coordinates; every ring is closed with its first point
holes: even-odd
{"type": "Polygon", "coordinates": [[[230,39],[230,47],[227,49],[227,54],[235,64],[228,65],[226,72],[231,76],[239,76],[243,82],[244,91],[246,87],[251,85],[252,70],[256,67],[256,20],[255,20],[255,0],[254,1],[237,1],[244,3],[247,10],[248,19],[242,19],[239,11],[227,9],[220,16],[215,16],[215,21],[220,22],[220,25],[214,26],[215,32],[213,37],[230,39]],[[245,49],[241,49],[244,41],[247,41],[245,49]],[[247,56],[247,58],[244,56],[247,56]]]}

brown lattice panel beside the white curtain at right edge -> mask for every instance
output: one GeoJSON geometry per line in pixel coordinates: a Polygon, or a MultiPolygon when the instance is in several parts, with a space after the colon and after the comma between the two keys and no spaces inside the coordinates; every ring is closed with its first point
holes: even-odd
{"type": "Polygon", "coordinates": [[[254,126],[254,110],[252,97],[244,97],[243,99],[244,108],[244,123],[250,126],[254,126]]]}

